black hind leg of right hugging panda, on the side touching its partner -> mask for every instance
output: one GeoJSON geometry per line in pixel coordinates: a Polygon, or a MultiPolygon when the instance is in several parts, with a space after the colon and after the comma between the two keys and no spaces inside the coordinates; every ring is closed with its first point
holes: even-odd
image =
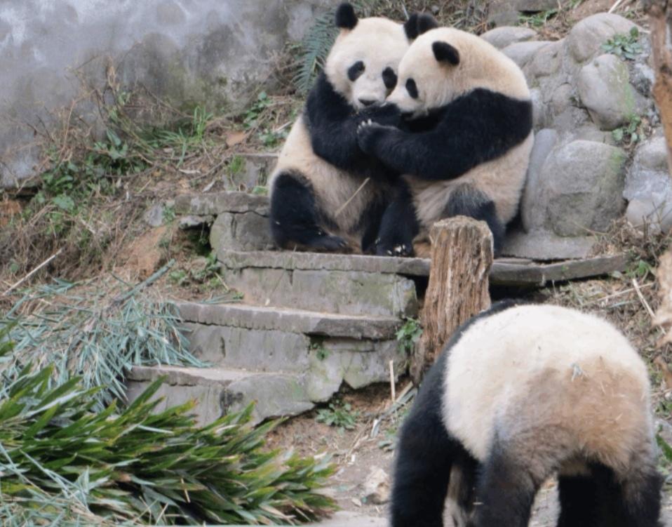
{"type": "Polygon", "coordinates": [[[410,189],[399,180],[394,190],[394,199],[385,210],[376,240],[379,256],[412,256],[413,239],[420,225],[415,213],[410,189]]]}

